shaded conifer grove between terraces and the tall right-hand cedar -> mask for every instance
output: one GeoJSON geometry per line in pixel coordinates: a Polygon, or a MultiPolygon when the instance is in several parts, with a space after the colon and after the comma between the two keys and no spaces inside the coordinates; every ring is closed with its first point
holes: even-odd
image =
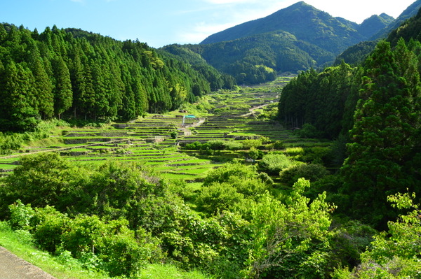
{"type": "MultiPolygon", "coordinates": [[[[286,85],[279,99],[279,120],[304,138],[336,138],[342,130],[347,99],[359,86],[348,64],[300,73],[286,85]],[[329,101],[326,101],[326,100],[329,101]]],[[[352,106],[352,104],[350,104],[352,106]]],[[[354,112],[354,107],[349,108],[354,112]]]]}

